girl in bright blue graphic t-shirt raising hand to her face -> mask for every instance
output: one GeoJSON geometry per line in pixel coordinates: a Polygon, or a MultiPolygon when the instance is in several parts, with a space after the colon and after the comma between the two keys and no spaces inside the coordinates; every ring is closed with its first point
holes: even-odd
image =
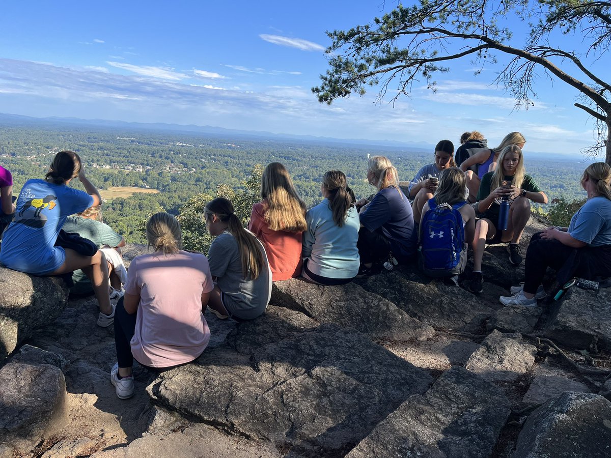
{"type": "Polygon", "coordinates": [[[83,256],[54,246],[68,216],[100,203],[100,194],[87,180],[78,154],[60,151],[44,180],[28,180],[23,185],[15,217],[2,238],[0,263],[33,275],[60,275],[82,269],[91,278],[100,305],[98,325],[106,327],[114,320],[114,308],[109,299],[108,264],[103,253],[98,250],[93,256],[83,256]],[[76,177],[87,192],[68,187],[76,177]]]}

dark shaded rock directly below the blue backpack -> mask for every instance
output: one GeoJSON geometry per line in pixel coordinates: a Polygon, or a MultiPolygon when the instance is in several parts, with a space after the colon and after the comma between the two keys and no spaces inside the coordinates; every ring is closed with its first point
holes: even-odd
{"type": "Polygon", "coordinates": [[[373,275],[363,283],[363,288],[435,329],[481,333],[486,319],[494,314],[494,309],[474,294],[422,277],[409,267],[373,275]]]}

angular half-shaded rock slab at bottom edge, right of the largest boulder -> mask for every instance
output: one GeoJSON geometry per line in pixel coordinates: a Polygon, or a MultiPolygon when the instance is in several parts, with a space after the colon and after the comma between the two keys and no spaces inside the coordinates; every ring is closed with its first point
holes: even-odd
{"type": "Polygon", "coordinates": [[[488,457],[510,413],[502,391],[463,368],[442,374],[415,394],[346,458],[488,457]]]}

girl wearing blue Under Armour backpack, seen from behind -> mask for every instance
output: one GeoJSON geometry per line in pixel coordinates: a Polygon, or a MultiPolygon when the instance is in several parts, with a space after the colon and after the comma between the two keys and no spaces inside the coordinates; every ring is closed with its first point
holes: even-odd
{"type": "Polygon", "coordinates": [[[456,277],[467,263],[467,244],[475,234],[475,210],[467,205],[467,176],[450,167],[439,176],[433,198],[422,208],[419,239],[422,269],[430,277],[456,277]]]}

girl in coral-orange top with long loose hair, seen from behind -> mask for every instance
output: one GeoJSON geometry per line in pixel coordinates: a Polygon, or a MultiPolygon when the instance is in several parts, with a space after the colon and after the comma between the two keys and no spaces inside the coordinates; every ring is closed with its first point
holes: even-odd
{"type": "Polygon", "coordinates": [[[261,197],[263,200],[252,206],[248,229],[263,242],[274,282],[299,277],[301,237],[307,229],[305,203],[280,162],[265,167],[261,197]]]}

